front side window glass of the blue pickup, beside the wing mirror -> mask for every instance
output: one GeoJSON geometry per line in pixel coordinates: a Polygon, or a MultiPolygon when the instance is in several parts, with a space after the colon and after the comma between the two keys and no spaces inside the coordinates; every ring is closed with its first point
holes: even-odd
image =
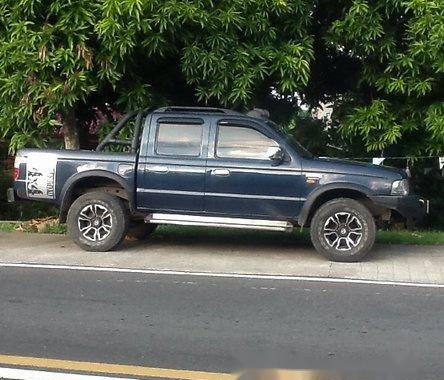
{"type": "Polygon", "coordinates": [[[279,144],[249,127],[219,125],[216,156],[268,160],[279,150],[279,144]]]}

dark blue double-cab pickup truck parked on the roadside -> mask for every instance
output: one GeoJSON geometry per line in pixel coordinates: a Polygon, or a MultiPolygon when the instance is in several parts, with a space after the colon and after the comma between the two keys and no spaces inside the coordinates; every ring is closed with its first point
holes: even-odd
{"type": "Polygon", "coordinates": [[[317,158],[265,112],[164,107],[126,115],[96,151],[23,149],[10,200],[60,207],[74,241],[107,251],[158,224],[291,231],[310,226],[331,260],[357,261],[376,224],[420,219],[403,171],[317,158]],[[131,122],[133,138],[119,139],[131,122]],[[125,152],[109,151],[121,146],[125,152]]]}

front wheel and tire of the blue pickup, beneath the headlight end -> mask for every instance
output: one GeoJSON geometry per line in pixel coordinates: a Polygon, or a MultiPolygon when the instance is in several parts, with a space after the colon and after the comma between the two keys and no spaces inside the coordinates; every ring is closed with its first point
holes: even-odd
{"type": "Polygon", "coordinates": [[[310,235],[316,250],[331,261],[359,261],[375,242],[375,220],[362,203],[333,199],[314,214],[310,235]]]}

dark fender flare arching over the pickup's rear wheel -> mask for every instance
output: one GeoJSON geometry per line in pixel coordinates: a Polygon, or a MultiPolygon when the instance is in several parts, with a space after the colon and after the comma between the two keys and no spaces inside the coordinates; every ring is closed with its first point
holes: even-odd
{"type": "Polygon", "coordinates": [[[135,210],[134,205],[134,194],[132,189],[128,186],[128,183],[118,174],[108,172],[105,170],[88,170],[81,173],[74,174],[73,176],[69,177],[68,180],[63,185],[62,190],[60,191],[59,196],[59,205],[60,205],[60,215],[59,219],[61,222],[66,221],[66,215],[68,213],[69,205],[71,202],[71,193],[74,189],[75,185],[81,181],[82,179],[88,178],[88,177],[99,177],[99,178],[106,178],[110,179],[112,181],[117,182],[122,188],[127,192],[128,194],[128,202],[130,206],[130,210],[135,210]]]}

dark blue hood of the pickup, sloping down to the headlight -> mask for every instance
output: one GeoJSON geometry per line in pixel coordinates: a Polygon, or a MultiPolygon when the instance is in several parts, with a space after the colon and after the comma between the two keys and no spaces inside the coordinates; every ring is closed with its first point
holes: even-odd
{"type": "Polygon", "coordinates": [[[401,169],[337,158],[320,157],[306,159],[304,160],[303,170],[328,172],[331,174],[378,177],[390,180],[400,180],[407,178],[407,173],[401,169]]]}

